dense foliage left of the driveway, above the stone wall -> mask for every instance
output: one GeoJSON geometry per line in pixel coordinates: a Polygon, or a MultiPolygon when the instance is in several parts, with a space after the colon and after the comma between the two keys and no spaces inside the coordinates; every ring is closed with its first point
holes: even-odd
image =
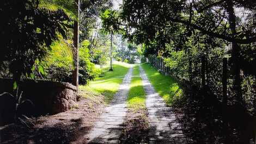
{"type": "MultiPolygon", "coordinates": [[[[2,1],[1,77],[48,79],[72,82],[75,62],[74,22],[76,1],[28,0],[2,1]],[[10,13],[11,15],[9,15],[10,13]],[[12,33],[10,33],[12,32],[12,33]]],[[[106,41],[98,44],[94,29],[99,29],[100,11],[109,1],[81,1],[80,14],[80,84],[87,84],[100,73],[93,64],[95,49],[101,49],[100,63],[106,64],[106,41]],[[96,43],[96,45],[95,45],[96,43]]],[[[97,52],[96,52],[97,53],[97,52]]]]}

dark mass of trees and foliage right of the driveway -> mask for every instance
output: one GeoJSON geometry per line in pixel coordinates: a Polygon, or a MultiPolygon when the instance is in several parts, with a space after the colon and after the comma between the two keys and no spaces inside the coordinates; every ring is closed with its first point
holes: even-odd
{"type": "Polygon", "coordinates": [[[125,36],[143,44],[151,64],[188,84],[179,108],[194,143],[252,139],[247,123],[256,108],[255,8],[253,1],[236,0],[124,1],[125,36]]]}

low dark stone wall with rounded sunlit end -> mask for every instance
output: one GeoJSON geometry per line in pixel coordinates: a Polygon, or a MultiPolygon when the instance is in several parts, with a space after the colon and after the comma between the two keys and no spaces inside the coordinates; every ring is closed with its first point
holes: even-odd
{"type": "MultiPolygon", "coordinates": [[[[15,96],[13,91],[13,80],[0,79],[0,94],[9,92],[15,96]]],[[[34,116],[57,114],[66,111],[76,102],[76,87],[69,83],[50,82],[46,80],[23,80],[19,87],[22,93],[22,101],[29,99],[32,105],[20,105],[19,113],[33,114],[34,116]]],[[[8,95],[0,96],[0,125],[11,121],[13,116],[14,98],[8,95]],[[2,116],[2,117],[1,117],[2,116]]]]}

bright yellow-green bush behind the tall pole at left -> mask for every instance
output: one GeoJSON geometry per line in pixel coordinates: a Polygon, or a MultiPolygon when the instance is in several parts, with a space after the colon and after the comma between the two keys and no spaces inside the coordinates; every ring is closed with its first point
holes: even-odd
{"type": "MultiPolygon", "coordinates": [[[[99,77],[101,73],[101,70],[97,69],[93,62],[90,61],[89,49],[87,48],[88,45],[89,41],[83,41],[79,53],[80,61],[78,80],[79,84],[82,85],[85,85],[90,80],[99,77]]],[[[74,70],[74,66],[71,48],[63,39],[54,42],[51,48],[52,51],[49,52],[48,57],[45,59],[45,78],[58,82],[72,83],[72,72],[74,70]]]]}

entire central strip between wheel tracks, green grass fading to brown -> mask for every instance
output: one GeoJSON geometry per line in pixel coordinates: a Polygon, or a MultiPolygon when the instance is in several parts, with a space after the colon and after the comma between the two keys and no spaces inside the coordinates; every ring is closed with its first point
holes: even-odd
{"type": "Polygon", "coordinates": [[[125,116],[120,143],[147,143],[148,137],[145,135],[148,135],[150,127],[145,99],[139,66],[136,65],[133,67],[131,87],[126,101],[129,110],[125,116]]]}

